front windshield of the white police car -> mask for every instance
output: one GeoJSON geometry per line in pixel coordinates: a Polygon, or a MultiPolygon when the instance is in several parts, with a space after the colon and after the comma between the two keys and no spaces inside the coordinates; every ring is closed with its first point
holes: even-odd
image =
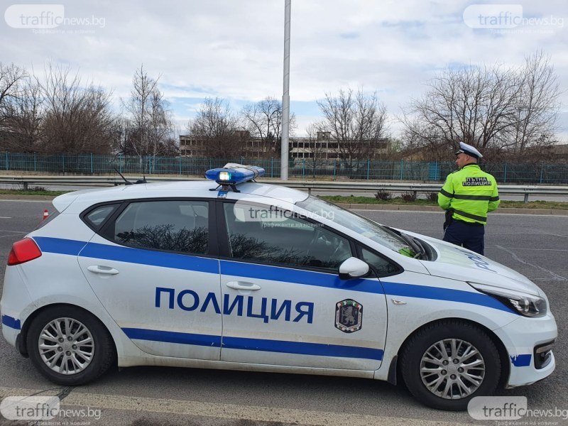
{"type": "Polygon", "coordinates": [[[311,195],[306,200],[297,202],[296,205],[306,209],[308,212],[315,213],[336,224],[345,226],[351,229],[351,231],[355,231],[357,234],[361,234],[388,249],[398,251],[398,253],[405,254],[405,256],[411,254],[412,249],[409,247],[408,241],[405,241],[403,237],[386,226],[373,222],[359,214],[342,209],[342,207],[311,195]]]}

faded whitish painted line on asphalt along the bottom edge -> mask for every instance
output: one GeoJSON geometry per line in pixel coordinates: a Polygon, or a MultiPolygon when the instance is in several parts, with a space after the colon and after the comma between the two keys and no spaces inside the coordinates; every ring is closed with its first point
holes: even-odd
{"type": "MultiPolygon", "coordinates": [[[[0,396],[16,395],[58,395],[58,389],[38,391],[0,387],[0,396]]],[[[236,405],[219,403],[201,403],[198,401],[173,400],[165,398],[143,398],[138,396],[104,395],[73,391],[61,401],[61,405],[82,408],[107,408],[109,410],[130,410],[141,413],[173,413],[200,417],[253,420],[257,422],[285,422],[295,425],[326,426],[459,426],[463,422],[442,422],[412,419],[405,417],[383,417],[374,415],[356,415],[353,413],[332,413],[325,411],[296,410],[295,408],[260,407],[256,405],[236,405]]],[[[104,413],[102,413],[103,418],[104,413]]]]}

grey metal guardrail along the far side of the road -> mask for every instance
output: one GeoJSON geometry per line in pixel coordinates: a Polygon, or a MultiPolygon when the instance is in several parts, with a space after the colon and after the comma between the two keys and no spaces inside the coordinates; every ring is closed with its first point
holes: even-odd
{"type": "MultiPolygon", "coordinates": [[[[130,182],[142,179],[142,176],[128,176],[130,182]]],[[[168,182],[180,180],[202,180],[201,178],[180,177],[153,177],[147,176],[147,182],[168,182]]],[[[413,183],[413,182],[322,182],[322,181],[297,181],[297,180],[259,180],[259,182],[271,183],[272,185],[284,185],[300,190],[340,190],[340,191],[391,191],[391,192],[438,192],[442,183],[413,183]]],[[[0,183],[22,185],[24,190],[29,185],[92,185],[92,186],[116,186],[124,185],[124,180],[116,176],[26,176],[7,175],[0,176],[0,183]]],[[[568,195],[568,186],[550,185],[499,185],[500,194],[524,195],[524,202],[528,202],[531,194],[540,195],[568,195]]]]}

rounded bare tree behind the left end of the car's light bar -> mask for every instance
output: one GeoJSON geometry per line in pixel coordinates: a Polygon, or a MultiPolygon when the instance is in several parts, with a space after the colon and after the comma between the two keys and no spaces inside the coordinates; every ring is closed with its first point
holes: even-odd
{"type": "Polygon", "coordinates": [[[190,136],[205,156],[231,159],[245,153],[249,133],[239,130],[229,104],[220,98],[206,98],[197,116],[187,125],[190,136]]]}

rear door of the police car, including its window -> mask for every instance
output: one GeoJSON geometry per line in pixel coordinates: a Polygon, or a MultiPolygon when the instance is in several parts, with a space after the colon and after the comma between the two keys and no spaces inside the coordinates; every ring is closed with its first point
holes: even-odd
{"type": "Polygon", "coordinates": [[[219,360],[219,261],[208,200],[133,200],[82,215],[97,232],[79,254],[92,290],[148,354],[219,360]],[[111,208],[104,224],[101,212],[111,208]]]}

